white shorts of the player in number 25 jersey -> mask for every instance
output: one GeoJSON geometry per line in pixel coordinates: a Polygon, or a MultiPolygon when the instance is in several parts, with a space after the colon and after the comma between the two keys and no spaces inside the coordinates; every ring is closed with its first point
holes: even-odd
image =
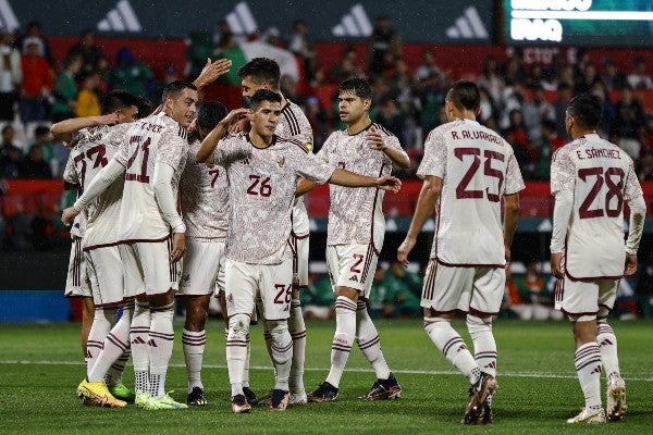
{"type": "Polygon", "coordinates": [[[438,313],[456,310],[481,315],[497,314],[506,288],[503,268],[461,268],[429,261],[421,306],[438,313]]]}

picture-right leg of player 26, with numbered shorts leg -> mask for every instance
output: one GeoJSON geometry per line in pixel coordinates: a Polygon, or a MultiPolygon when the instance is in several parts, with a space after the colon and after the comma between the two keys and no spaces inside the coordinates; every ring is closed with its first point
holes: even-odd
{"type": "Polygon", "coordinates": [[[289,375],[293,363],[293,338],[287,318],[293,291],[293,260],[281,264],[261,265],[259,294],[262,316],[271,337],[270,350],[274,363],[274,388],[268,409],[284,410],[289,401],[289,375]]]}

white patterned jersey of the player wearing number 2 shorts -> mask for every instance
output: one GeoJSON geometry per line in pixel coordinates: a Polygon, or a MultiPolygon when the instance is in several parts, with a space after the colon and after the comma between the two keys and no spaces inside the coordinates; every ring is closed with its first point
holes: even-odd
{"type": "MultiPolygon", "coordinates": [[[[384,142],[405,151],[399,140],[383,126],[372,123],[384,142]]],[[[368,129],[349,135],[346,129],[331,134],[317,157],[330,166],[373,177],[390,175],[392,160],[379,150],[372,150],[366,140],[368,129]]],[[[406,156],[407,158],[407,156],[406,156]]],[[[373,244],[377,252],[383,247],[385,217],[383,216],[384,190],[375,187],[329,186],[331,207],[326,245],[373,244]]]]}

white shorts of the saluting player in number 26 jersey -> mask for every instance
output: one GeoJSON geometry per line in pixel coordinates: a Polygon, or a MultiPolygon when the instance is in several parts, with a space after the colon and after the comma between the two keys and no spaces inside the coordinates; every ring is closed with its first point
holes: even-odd
{"type": "Polygon", "coordinates": [[[263,319],[283,320],[291,312],[293,296],[293,259],[279,264],[249,264],[226,259],[226,312],[250,315],[260,296],[263,319]]]}

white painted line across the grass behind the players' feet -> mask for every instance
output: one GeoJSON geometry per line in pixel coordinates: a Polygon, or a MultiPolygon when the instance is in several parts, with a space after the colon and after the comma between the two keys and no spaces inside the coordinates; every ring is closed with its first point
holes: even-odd
{"type": "MultiPolygon", "coordinates": [[[[0,364],[25,364],[25,365],[84,365],[82,361],[30,361],[30,360],[0,360],[0,364]]],[[[185,368],[184,364],[170,364],[172,368],[185,368]]],[[[226,369],[226,364],[204,364],[202,369],[226,369]]],[[[267,365],[252,365],[249,370],[272,370],[272,366],[267,365]]],[[[329,368],[305,368],[307,372],[328,372],[329,368]]],[[[346,369],[346,372],[356,373],[372,373],[370,369],[346,369]]],[[[393,370],[393,373],[398,374],[423,374],[423,375],[439,375],[439,374],[459,374],[454,370],[393,370]]],[[[539,378],[556,378],[556,380],[575,380],[576,374],[556,374],[556,373],[538,373],[538,372],[500,372],[498,377],[539,377],[539,378]]],[[[641,381],[641,382],[653,382],[653,377],[640,377],[640,376],[624,376],[625,381],[641,381]]]]}

